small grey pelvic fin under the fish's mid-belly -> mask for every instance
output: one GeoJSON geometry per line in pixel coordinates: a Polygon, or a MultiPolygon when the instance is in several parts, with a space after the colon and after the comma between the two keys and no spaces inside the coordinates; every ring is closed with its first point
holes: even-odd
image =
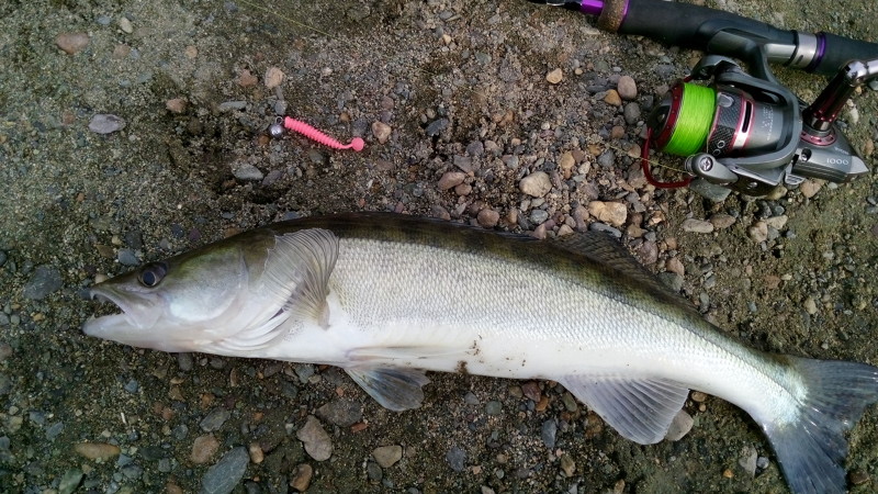
{"type": "Polygon", "coordinates": [[[381,406],[394,412],[419,407],[424,401],[421,386],[430,382],[418,369],[360,366],[345,371],[381,406]]]}

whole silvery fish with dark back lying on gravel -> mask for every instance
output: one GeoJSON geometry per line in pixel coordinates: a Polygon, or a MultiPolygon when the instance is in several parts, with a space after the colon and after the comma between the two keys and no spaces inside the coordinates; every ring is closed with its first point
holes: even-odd
{"type": "Polygon", "coordinates": [[[845,431],[878,368],[750,348],[606,234],[555,239],[392,213],[274,223],[94,284],[86,335],[168,352],[337,366],[382,406],[427,371],[562,384],[661,441],[691,390],[744,409],[795,493],[845,492],[845,431]]]}

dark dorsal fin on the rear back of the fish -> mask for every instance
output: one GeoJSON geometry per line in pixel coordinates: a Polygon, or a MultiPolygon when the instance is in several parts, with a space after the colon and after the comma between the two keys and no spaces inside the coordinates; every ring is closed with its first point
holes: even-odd
{"type": "Polygon", "coordinates": [[[569,252],[585,256],[588,259],[605,265],[622,274],[637,287],[641,287],[665,302],[669,302],[690,315],[701,317],[691,302],[680,294],[672,292],[671,288],[662,283],[655,274],[643,267],[620,243],[603,232],[585,232],[564,235],[551,240],[556,247],[569,252]]]}

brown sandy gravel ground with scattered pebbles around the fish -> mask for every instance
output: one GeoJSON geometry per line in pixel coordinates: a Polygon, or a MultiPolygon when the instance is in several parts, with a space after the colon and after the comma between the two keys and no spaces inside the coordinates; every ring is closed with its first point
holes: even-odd
{"type": "MultiPolygon", "coordinates": [[[[708,3],[878,40],[871,0],[708,3]]],[[[397,211],[609,229],[751,345],[878,364],[874,172],[717,202],[645,183],[642,120],[697,58],[525,1],[3,2],[0,491],[786,492],[757,427],[710,396],[685,438],[642,447],[552,382],[432,375],[395,414],[338,369],[79,330],[95,277],[277,220],[397,211]],[[367,148],[272,141],[279,114],[367,148]]],[[[823,83],[778,76],[804,100],[823,83]]],[[[877,102],[844,114],[873,168],[877,102]]],[[[849,439],[852,491],[874,492],[876,407],[849,439]]]]}

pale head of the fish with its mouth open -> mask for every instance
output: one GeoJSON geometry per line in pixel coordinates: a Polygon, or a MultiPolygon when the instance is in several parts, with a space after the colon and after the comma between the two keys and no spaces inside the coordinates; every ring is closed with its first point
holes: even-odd
{"type": "Polygon", "coordinates": [[[120,313],[90,318],[82,332],[135,347],[196,351],[219,338],[223,319],[244,304],[248,276],[244,252],[229,243],[149,262],[89,290],[120,313]]]}

